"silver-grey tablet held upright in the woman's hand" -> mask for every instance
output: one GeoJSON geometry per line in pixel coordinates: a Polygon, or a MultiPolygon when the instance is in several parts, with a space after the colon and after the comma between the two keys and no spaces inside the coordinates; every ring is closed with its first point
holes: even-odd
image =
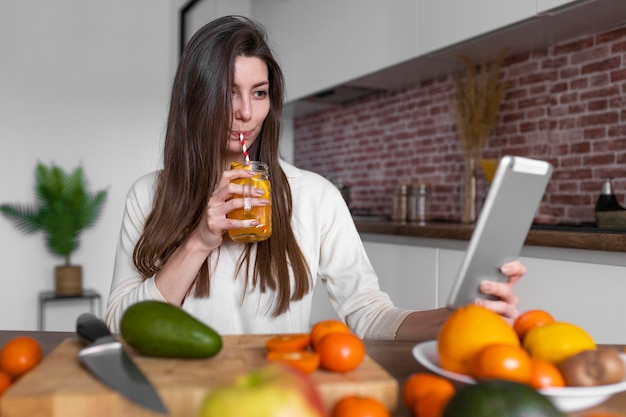
{"type": "Polygon", "coordinates": [[[450,292],[448,308],[471,304],[479,297],[493,299],[480,292],[480,283],[507,281],[499,268],[519,256],[551,175],[552,165],[545,161],[519,156],[500,160],[450,292]]]}

